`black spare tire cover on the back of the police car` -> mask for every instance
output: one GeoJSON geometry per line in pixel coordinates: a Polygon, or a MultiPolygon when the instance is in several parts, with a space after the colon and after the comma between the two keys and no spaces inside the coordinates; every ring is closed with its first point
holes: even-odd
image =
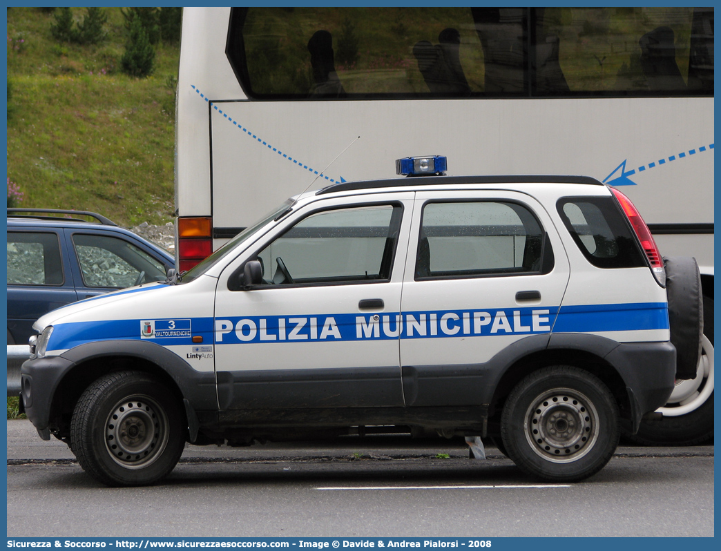
{"type": "Polygon", "coordinates": [[[704,300],[696,259],[669,257],[666,267],[671,343],[676,347],[676,379],[694,379],[701,358],[704,300]]]}

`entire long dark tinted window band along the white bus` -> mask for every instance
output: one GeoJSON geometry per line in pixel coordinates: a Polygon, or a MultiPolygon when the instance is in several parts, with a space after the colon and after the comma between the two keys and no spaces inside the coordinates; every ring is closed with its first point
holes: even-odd
{"type": "Polygon", "coordinates": [[[233,8],[249,97],[713,94],[713,9],[233,8]]]}

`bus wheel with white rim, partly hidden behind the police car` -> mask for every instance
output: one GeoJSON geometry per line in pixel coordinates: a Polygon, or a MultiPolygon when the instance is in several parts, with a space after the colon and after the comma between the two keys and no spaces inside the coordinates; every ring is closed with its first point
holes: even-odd
{"type": "Polygon", "coordinates": [[[714,436],[714,301],[704,296],[704,340],[694,379],[677,379],[671,399],[658,413],[642,420],[629,440],[647,446],[694,446],[714,436]]]}

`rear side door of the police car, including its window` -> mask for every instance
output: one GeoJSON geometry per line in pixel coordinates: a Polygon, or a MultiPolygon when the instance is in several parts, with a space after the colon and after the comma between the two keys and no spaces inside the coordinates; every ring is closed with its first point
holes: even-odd
{"type": "Polygon", "coordinates": [[[478,405],[497,354],[553,327],[569,278],[559,236],[528,195],[429,191],[417,193],[409,248],[405,402],[478,405]]]}

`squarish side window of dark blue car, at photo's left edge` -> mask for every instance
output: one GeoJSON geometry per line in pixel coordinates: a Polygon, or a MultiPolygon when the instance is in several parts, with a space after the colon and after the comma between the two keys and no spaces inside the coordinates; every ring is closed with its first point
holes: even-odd
{"type": "Polygon", "coordinates": [[[8,285],[62,285],[58,234],[7,233],[8,285]]]}

